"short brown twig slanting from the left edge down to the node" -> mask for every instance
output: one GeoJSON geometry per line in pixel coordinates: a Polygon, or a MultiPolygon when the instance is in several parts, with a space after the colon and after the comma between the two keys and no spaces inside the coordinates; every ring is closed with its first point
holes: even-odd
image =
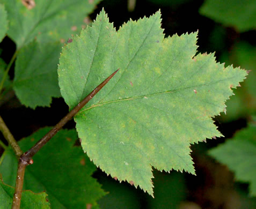
{"type": "Polygon", "coordinates": [[[5,125],[3,118],[0,116],[0,131],[3,133],[4,138],[8,141],[8,143],[11,145],[14,153],[16,154],[17,158],[19,159],[20,155],[23,154],[23,152],[20,150],[20,147],[17,143],[17,141],[12,136],[10,130],[5,125]]]}

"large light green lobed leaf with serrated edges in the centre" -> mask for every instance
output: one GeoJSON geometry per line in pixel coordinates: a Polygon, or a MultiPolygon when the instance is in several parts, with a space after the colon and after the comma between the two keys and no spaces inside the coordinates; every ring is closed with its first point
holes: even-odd
{"type": "Polygon", "coordinates": [[[223,111],[246,72],[196,53],[197,33],[164,39],[160,12],[118,32],[101,12],[63,48],[61,94],[73,108],[119,72],[75,116],[82,147],[107,174],[152,195],[152,168],[194,174],[191,143],[222,136],[211,117],[223,111]]]}

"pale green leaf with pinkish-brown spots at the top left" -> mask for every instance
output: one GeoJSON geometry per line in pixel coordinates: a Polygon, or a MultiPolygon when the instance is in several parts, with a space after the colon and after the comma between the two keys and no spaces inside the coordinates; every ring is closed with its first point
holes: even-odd
{"type": "Polygon", "coordinates": [[[67,40],[85,27],[84,18],[99,0],[2,0],[10,20],[8,35],[20,48],[39,42],[67,40]]]}

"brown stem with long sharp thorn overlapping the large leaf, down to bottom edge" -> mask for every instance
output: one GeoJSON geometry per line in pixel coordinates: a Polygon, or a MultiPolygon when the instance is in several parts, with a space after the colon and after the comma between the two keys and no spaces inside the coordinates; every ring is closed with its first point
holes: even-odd
{"type": "Polygon", "coordinates": [[[86,96],[74,109],[72,109],[65,117],[62,118],[60,122],[58,122],[52,130],[50,130],[43,138],[41,138],[38,143],[36,143],[33,147],[30,148],[27,152],[22,154],[19,158],[19,165],[17,171],[17,178],[16,178],[16,186],[15,192],[13,195],[13,203],[12,209],[19,209],[20,207],[20,200],[21,200],[21,193],[23,189],[23,182],[24,182],[24,174],[25,168],[27,165],[33,163],[32,157],[45,145],[72,117],[74,117],[79,110],[81,110],[87,102],[89,102],[93,96],[95,96],[101,88],[103,88],[108,81],[114,76],[116,70],[111,74],[111,76],[107,77],[103,83],[97,86],[89,95],[86,96]]]}

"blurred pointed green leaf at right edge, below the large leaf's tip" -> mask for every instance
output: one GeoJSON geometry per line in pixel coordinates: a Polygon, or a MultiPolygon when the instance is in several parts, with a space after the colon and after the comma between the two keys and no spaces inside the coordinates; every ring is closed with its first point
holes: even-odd
{"type": "Polygon", "coordinates": [[[209,154],[235,172],[238,181],[250,183],[250,195],[256,196],[256,126],[249,125],[209,154]]]}

